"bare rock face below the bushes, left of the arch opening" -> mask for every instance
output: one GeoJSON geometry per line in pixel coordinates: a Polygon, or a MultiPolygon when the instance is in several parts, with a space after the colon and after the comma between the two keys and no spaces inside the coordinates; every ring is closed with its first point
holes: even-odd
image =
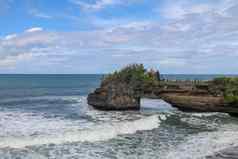
{"type": "Polygon", "coordinates": [[[100,110],[138,110],[140,96],[126,83],[111,82],[89,94],[88,104],[100,110]]]}

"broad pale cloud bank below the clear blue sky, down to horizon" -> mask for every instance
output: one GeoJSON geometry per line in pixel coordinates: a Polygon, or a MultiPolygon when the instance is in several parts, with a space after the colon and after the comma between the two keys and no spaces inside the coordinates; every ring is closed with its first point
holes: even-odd
{"type": "MultiPolygon", "coordinates": [[[[27,61],[31,71],[99,73],[137,62],[164,73],[237,73],[238,4],[176,2],[180,9],[171,9],[174,3],[163,6],[163,12],[174,11],[164,23],[131,21],[73,32],[34,27],[7,35],[0,40],[0,66],[27,61]]],[[[98,1],[93,7],[112,3],[98,1]]]]}

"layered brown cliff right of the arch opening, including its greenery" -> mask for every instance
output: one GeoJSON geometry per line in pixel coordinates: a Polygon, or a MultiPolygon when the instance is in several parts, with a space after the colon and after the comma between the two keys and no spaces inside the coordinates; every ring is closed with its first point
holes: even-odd
{"type": "Polygon", "coordinates": [[[159,98],[182,111],[223,112],[238,116],[236,100],[238,87],[233,82],[234,79],[232,84],[229,81],[229,78],[194,83],[168,81],[163,84],[165,88],[160,91],[159,98]]]}

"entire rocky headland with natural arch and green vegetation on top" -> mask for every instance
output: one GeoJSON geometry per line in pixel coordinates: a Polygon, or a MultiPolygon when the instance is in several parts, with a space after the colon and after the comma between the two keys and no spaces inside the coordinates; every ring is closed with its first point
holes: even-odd
{"type": "Polygon", "coordinates": [[[182,111],[238,116],[238,80],[165,81],[158,76],[143,65],[130,65],[104,78],[88,95],[88,104],[101,110],[136,110],[140,98],[160,98],[182,111]]]}

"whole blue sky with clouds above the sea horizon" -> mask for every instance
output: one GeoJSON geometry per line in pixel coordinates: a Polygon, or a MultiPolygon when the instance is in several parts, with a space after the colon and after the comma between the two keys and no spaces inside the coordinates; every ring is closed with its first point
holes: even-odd
{"type": "Polygon", "coordinates": [[[0,73],[238,74],[237,0],[0,0],[0,73]]]}

